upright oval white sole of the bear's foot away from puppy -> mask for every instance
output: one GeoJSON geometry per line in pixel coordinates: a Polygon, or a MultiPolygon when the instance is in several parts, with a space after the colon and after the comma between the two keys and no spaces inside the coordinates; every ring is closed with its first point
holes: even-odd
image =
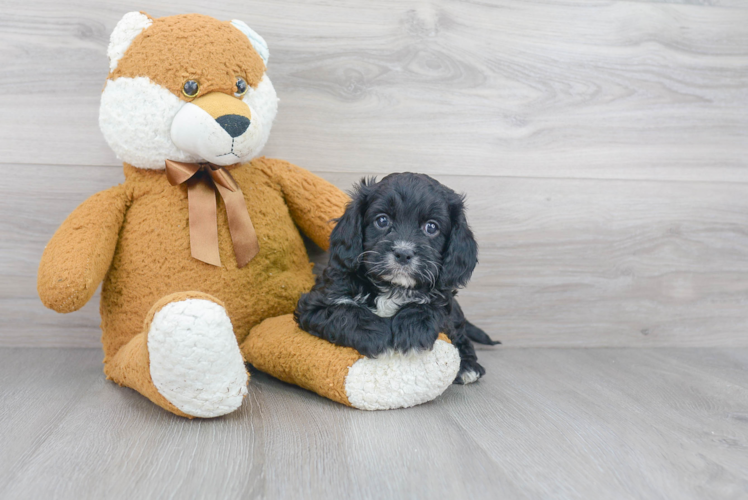
{"type": "Polygon", "coordinates": [[[226,311],[187,299],[156,313],[148,331],[151,379],[174,406],[193,417],[217,417],[241,406],[247,370],[226,311]]]}

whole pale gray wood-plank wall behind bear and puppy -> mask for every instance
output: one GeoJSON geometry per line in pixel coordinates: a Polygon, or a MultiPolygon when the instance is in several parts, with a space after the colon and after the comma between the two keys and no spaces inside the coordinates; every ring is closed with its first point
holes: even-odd
{"type": "Polygon", "coordinates": [[[211,3],[2,2],[0,346],[98,345],[98,296],[47,311],[36,266],[123,180],[97,120],[131,10],[266,38],[267,156],[465,192],[481,264],[461,302],[505,345],[748,346],[745,2],[211,3]]]}

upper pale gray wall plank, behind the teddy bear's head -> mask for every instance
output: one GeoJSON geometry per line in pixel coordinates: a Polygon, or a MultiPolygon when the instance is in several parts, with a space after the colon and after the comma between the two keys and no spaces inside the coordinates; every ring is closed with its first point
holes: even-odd
{"type": "Polygon", "coordinates": [[[706,1],[6,1],[2,162],[117,163],[105,49],[140,9],[265,36],[267,154],[312,170],[748,180],[748,9],[706,1]]]}

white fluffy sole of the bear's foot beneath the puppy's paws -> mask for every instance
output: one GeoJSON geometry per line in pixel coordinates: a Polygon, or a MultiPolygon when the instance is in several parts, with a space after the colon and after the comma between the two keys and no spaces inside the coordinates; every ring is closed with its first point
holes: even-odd
{"type": "Polygon", "coordinates": [[[351,405],[362,410],[408,408],[439,396],[459,369],[457,348],[437,340],[431,351],[359,359],[348,370],[345,391],[351,405]]]}

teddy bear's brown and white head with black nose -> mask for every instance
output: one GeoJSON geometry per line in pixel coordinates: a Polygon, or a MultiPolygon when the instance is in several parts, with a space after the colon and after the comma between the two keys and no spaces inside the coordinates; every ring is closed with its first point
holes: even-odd
{"type": "Polygon", "coordinates": [[[278,97],[265,74],[265,40],[239,20],[130,12],[109,42],[99,126],[134,167],[168,160],[216,165],[257,156],[278,97]]]}

